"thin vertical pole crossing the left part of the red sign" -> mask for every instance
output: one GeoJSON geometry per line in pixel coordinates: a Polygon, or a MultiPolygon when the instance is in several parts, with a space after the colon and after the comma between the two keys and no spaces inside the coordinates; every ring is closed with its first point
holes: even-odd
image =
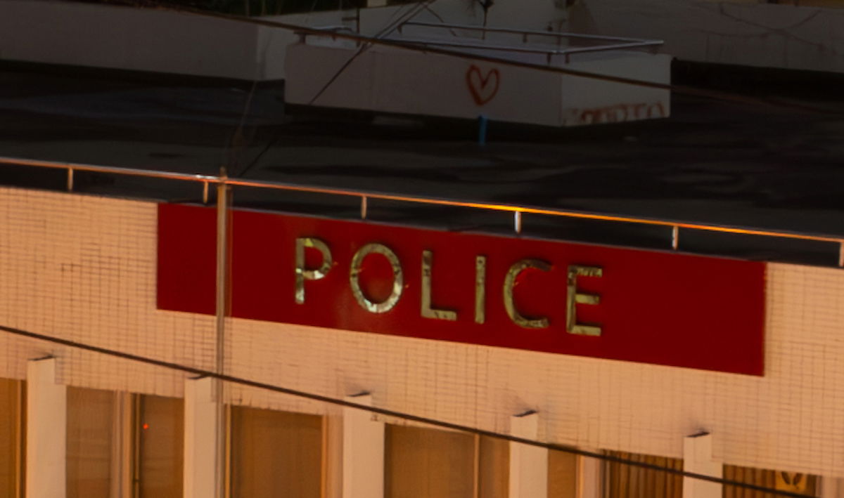
{"type": "MultiPolygon", "coordinates": [[[[225,373],[225,320],[229,312],[229,206],[231,204],[231,190],[226,183],[228,175],[225,168],[219,172],[217,184],[217,292],[216,292],[216,324],[217,347],[216,368],[219,374],[225,373]]],[[[225,396],[224,383],[214,379],[214,397],[217,404],[216,418],[216,472],[214,473],[215,496],[225,498],[225,396]]]]}

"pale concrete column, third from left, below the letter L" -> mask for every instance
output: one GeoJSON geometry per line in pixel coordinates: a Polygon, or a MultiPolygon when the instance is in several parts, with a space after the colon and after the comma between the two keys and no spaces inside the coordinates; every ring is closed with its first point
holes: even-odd
{"type": "MultiPolygon", "coordinates": [[[[347,401],[372,405],[370,394],[349,396],[347,401]]],[[[343,409],[343,496],[384,496],[384,422],[371,412],[343,409]]]]}

